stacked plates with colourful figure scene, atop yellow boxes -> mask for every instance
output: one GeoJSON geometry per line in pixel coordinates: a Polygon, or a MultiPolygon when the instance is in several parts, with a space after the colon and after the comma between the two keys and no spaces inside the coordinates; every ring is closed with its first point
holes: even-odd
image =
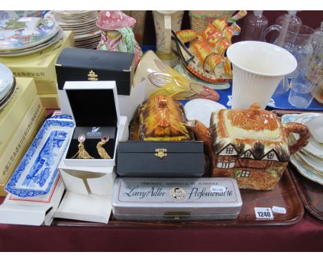
{"type": "Polygon", "coordinates": [[[0,56],[21,56],[48,48],[63,36],[50,19],[22,17],[0,21],[0,56]]]}

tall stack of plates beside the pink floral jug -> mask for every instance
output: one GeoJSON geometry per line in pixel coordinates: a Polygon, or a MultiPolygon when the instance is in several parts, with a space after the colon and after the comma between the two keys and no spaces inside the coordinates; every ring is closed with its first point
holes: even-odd
{"type": "Polygon", "coordinates": [[[101,39],[101,30],[95,24],[97,11],[51,11],[63,30],[72,30],[75,48],[95,49],[101,39]]]}

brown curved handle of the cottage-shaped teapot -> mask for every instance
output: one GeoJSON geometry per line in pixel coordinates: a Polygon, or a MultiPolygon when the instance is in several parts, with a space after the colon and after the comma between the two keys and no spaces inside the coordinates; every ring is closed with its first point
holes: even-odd
{"type": "Polygon", "coordinates": [[[311,133],[309,131],[309,127],[307,127],[306,125],[303,125],[301,123],[286,123],[284,125],[284,131],[286,137],[288,137],[291,132],[293,132],[294,134],[300,134],[300,138],[298,138],[296,143],[294,143],[293,145],[288,145],[290,154],[294,154],[296,151],[309,143],[311,133]]]}

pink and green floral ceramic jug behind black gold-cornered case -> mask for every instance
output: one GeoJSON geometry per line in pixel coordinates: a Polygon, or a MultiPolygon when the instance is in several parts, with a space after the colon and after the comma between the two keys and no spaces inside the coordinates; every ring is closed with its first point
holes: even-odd
{"type": "Polygon", "coordinates": [[[97,26],[101,28],[101,40],[97,50],[135,53],[137,67],[142,52],[132,30],[135,23],[133,17],[121,11],[100,11],[97,26]]]}

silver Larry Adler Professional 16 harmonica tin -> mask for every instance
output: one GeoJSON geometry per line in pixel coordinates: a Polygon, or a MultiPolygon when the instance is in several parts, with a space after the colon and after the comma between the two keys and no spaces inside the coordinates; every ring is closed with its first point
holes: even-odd
{"type": "Polygon", "coordinates": [[[121,220],[235,219],[241,207],[232,178],[117,178],[112,198],[121,220]]]}

